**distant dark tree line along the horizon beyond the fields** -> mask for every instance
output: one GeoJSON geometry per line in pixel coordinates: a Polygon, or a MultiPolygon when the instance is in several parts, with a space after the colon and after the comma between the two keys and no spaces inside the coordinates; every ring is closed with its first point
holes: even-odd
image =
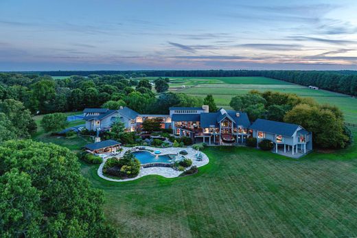
{"type": "MultiPolygon", "coordinates": [[[[24,73],[24,72],[23,72],[24,73]]],[[[126,77],[240,77],[263,76],[305,86],[318,86],[329,91],[357,96],[357,71],[254,71],[254,70],[192,70],[192,71],[46,71],[26,72],[41,75],[71,76],[91,74],[124,75],[126,77]]]]}

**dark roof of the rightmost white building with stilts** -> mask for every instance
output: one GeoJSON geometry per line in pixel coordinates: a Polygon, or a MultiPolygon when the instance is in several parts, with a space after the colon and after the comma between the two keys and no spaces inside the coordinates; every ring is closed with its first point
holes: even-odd
{"type": "Polygon", "coordinates": [[[282,136],[292,136],[300,126],[292,123],[285,123],[280,121],[270,121],[266,119],[257,119],[250,126],[253,130],[260,130],[272,134],[279,134],[282,136]]]}

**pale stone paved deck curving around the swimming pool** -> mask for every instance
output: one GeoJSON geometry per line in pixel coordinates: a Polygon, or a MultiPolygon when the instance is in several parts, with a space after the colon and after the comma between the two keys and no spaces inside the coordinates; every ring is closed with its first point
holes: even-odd
{"type": "MultiPolygon", "coordinates": [[[[189,158],[192,160],[192,166],[196,165],[196,167],[202,167],[203,165],[207,165],[209,163],[209,158],[207,155],[203,152],[200,152],[202,154],[202,160],[198,161],[196,160],[196,154],[197,150],[194,150],[192,147],[168,147],[168,148],[157,148],[157,147],[150,147],[150,146],[145,146],[146,149],[148,150],[160,150],[161,154],[160,155],[165,155],[165,154],[178,154],[181,150],[187,151],[187,155],[185,155],[185,158],[189,158]]],[[[122,147],[123,151],[117,155],[116,157],[123,156],[125,152],[128,150],[133,150],[133,147],[122,147]]],[[[139,151],[139,150],[138,150],[139,151]]],[[[135,150],[133,150],[135,152],[135,150]]],[[[174,170],[169,167],[148,167],[148,168],[143,168],[141,167],[138,176],[135,178],[127,178],[127,179],[115,179],[115,178],[107,178],[103,174],[103,167],[104,164],[106,163],[106,160],[108,158],[112,158],[113,156],[107,156],[103,158],[103,162],[100,164],[97,174],[100,176],[100,178],[103,178],[108,181],[112,182],[126,182],[126,181],[131,181],[131,180],[137,180],[138,178],[141,178],[143,176],[148,176],[148,175],[159,175],[163,176],[165,178],[176,178],[179,177],[180,174],[183,173],[183,171],[178,171],[174,170]]]]}

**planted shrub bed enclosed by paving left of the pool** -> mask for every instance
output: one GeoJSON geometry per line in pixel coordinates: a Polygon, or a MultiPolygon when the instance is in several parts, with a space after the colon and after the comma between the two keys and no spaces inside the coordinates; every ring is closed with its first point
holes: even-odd
{"type": "Polygon", "coordinates": [[[119,178],[134,178],[139,174],[140,161],[133,153],[126,152],[120,159],[108,158],[103,167],[103,173],[119,178]]]}

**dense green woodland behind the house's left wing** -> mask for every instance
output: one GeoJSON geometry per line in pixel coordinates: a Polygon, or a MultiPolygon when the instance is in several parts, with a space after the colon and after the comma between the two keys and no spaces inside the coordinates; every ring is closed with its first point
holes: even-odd
{"type": "MultiPolygon", "coordinates": [[[[139,113],[161,114],[169,106],[201,106],[203,100],[182,93],[165,93],[168,78],[133,80],[132,75],[50,76],[0,73],[0,102],[21,102],[32,114],[83,108],[128,106],[139,113]],[[162,93],[157,94],[152,91],[162,93]]],[[[0,108],[1,112],[1,108],[0,108]]]]}

